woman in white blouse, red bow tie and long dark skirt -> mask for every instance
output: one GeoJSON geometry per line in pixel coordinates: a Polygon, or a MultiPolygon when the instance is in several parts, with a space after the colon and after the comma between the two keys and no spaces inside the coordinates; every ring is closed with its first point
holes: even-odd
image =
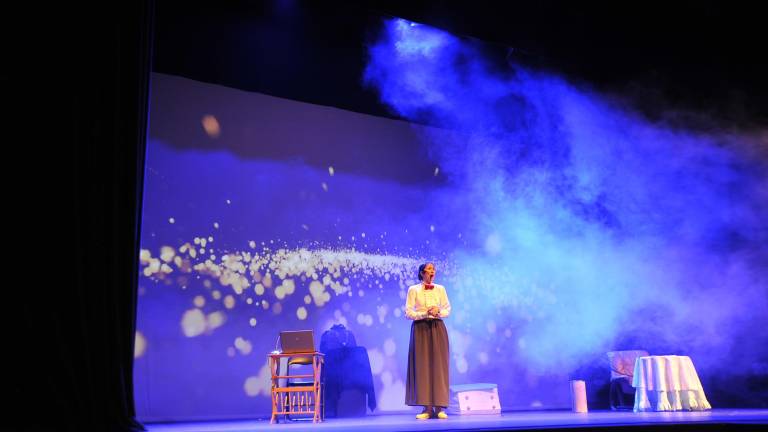
{"type": "Polygon", "coordinates": [[[451,313],[451,303],[445,287],[432,283],[435,265],[419,266],[418,285],[408,288],[405,316],[413,320],[408,347],[408,380],[405,386],[406,405],[419,405],[424,411],[419,420],[446,419],[448,415],[448,331],[443,318],[451,313]]]}

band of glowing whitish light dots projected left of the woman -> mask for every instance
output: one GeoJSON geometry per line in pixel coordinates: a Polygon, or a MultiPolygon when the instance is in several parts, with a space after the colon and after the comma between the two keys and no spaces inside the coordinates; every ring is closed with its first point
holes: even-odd
{"type": "MultiPolygon", "coordinates": [[[[205,241],[205,239],[202,240],[205,241]]],[[[200,242],[201,239],[197,237],[193,240],[193,243],[196,244],[200,242]]],[[[254,242],[250,242],[250,248],[255,248],[254,242]]],[[[296,248],[272,251],[266,247],[258,252],[253,250],[231,252],[221,256],[217,262],[211,258],[198,257],[190,242],[182,244],[178,255],[170,246],[161,247],[161,254],[163,254],[161,259],[173,262],[176,271],[191,274],[197,278],[207,276],[217,280],[220,286],[231,289],[234,295],[222,296],[219,290],[211,291],[212,299],[221,300],[225,309],[234,309],[241,306],[241,303],[245,303],[243,306],[251,305],[253,298],[268,294],[265,288],[273,288],[271,294],[278,302],[273,303],[272,308],[277,314],[282,312],[282,305],[279,300],[284,300],[294,294],[300,295],[307,306],[314,305],[317,308],[325,306],[331,300],[332,295],[334,297],[362,296],[365,292],[363,289],[353,293],[349,285],[350,278],[361,275],[373,279],[399,281],[400,298],[404,299],[405,281],[413,279],[413,269],[421,263],[414,258],[364,253],[353,249],[312,250],[296,248]],[[296,281],[305,286],[306,290],[298,291],[296,281]],[[237,300],[242,298],[251,301],[237,300]]],[[[145,276],[155,281],[162,281],[171,277],[174,269],[170,266],[164,269],[158,266],[157,262],[158,260],[152,257],[151,251],[141,250],[140,263],[144,267],[143,274],[145,276]]],[[[184,289],[182,280],[178,282],[180,282],[179,286],[184,289]]],[[[211,288],[210,283],[206,285],[207,288],[211,288]]],[[[206,317],[201,309],[206,304],[206,299],[202,295],[194,296],[192,303],[195,308],[187,310],[181,317],[181,326],[187,337],[210,333],[216,327],[221,326],[226,319],[224,311],[217,311],[206,317]]],[[[266,300],[262,300],[262,304],[266,305],[265,309],[269,305],[266,300]]],[[[388,306],[382,304],[378,306],[377,310],[379,322],[383,323],[388,306]]],[[[299,320],[307,319],[308,314],[309,311],[306,306],[300,306],[296,309],[299,320]]],[[[370,326],[373,324],[373,316],[359,314],[357,321],[360,324],[370,326]]],[[[252,326],[257,323],[255,319],[249,322],[252,326]]]]}

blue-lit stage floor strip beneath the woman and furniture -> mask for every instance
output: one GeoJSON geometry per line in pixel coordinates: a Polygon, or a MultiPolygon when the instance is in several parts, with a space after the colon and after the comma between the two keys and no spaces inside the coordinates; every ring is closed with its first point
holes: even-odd
{"type": "MultiPolygon", "coordinates": [[[[251,431],[425,431],[425,430],[534,430],[583,429],[653,426],[705,427],[705,425],[744,425],[739,430],[758,430],[768,425],[768,409],[716,409],[705,412],[614,412],[592,411],[577,414],[570,411],[509,412],[501,415],[453,415],[446,420],[416,420],[412,414],[368,415],[356,418],[326,419],[323,423],[281,421],[271,425],[269,420],[207,421],[185,423],[146,423],[151,432],[251,432],[251,431]],[[749,427],[747,427],[749,425],[749,427]]],[[[706,427],[708,430],[709,427],[706,427]]],[[[731,429],[731,428],[729,428],[731,429]]],[[[690,429],[693,430],[693,429],[690,429]]]]}

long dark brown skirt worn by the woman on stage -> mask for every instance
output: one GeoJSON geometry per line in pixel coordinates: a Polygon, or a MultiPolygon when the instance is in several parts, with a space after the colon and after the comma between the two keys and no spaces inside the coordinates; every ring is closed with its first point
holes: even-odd
{"type": "Polygon", "coordinates": [[[443,320],[417,320],[411,324],[405,404],[448,407],[448,331],[443,320]]]}

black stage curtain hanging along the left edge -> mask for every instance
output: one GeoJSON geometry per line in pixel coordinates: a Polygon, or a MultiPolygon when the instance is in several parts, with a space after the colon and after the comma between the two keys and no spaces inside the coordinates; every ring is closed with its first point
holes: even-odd
{"type": "Polygon", "coordinates": [[[119,0],[5,15],[2,83],[21,132],[6,148],[24,153],[5,154],[21,173],[5,184],[31,189],[6,195],[25,222],[9,230],[12,259],[28,265],[6,286],[0,430],[144,429],[133,348],[153,14],[152,0],[119,0]]]}

